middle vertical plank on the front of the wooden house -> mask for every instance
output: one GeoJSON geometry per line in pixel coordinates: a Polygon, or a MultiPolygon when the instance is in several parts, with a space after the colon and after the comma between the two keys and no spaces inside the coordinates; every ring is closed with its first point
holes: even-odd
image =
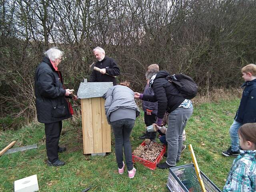
{"type": "Polygon", "coordinates": [[[102,153],[102,124],[100,97],[92,98],[92,127],[94,153],[102,153]]]}

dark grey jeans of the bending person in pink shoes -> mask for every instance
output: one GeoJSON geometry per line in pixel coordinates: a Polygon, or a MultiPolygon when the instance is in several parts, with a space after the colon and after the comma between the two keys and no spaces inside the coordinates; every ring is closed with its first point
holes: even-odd
{"type": "Polygon", "coordinates": [[[124,146],[124,156],[127,166],[127,170],[133,169],[132,163],[132,146],[130,143],[130,135],[132,128],[134,126],[135,120],[133,119],[120,119],[111,122],[111,127],[115,136],[115,152],[116,152],[116,162],[118,168],[123,166],[123,146],[124,146]]]}

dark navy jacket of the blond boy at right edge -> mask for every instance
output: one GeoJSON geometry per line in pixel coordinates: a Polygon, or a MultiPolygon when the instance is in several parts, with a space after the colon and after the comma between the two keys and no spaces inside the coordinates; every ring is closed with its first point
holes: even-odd
{"type": "Polygon", "coordinates": [[[236,112],[235,120],[239,123],[256,122],[256,79],[245,82],[240,106],[236,112]]]}

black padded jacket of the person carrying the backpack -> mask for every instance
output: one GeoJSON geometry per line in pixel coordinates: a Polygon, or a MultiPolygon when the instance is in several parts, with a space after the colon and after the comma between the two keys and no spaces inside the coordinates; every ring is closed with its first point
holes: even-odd
{"type": "Polygon", "coordinates": [[[169,75],[166,71],[159,71],[152,84],[155,95],[144,95],[142,100],[158,101],[157,117],[164,118],[164,113],[174,111],[185,100],[182,96],[177,96],[180,91],[174,84],[168,82],[166,77],[169,75]]]}

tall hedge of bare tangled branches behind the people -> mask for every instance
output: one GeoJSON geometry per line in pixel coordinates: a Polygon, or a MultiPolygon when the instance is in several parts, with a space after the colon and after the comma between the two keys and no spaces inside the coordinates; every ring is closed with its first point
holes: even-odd
{"type": "Polygon", "coordinates": [[[136,92],[153,63],[190,75],[205,94],[238,88],[240,69],[256,61],[256,1],[100,2],[1,1],[0,117],[18,112],[36,119],[34,72],[53,46],[64,51],[58,68],[75,91],[90,77],[96,46],[118,63],[117,82],[130,81],[136,92]]]}

